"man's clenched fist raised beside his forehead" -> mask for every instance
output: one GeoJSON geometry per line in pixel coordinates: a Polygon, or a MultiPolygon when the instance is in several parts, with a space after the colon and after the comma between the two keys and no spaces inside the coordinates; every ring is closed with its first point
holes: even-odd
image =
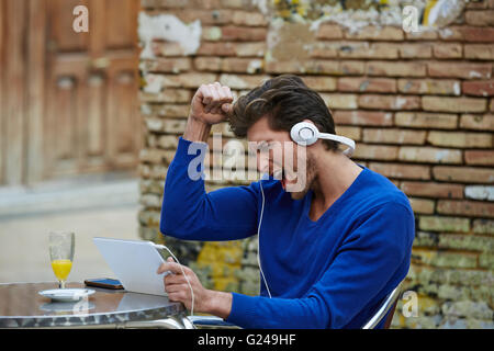
{"type": "Polygon", "coordinates": [[[202,84],[194,97],[183,138],[190,141],[207,140],[211,126],[224,122],[232,113],[233,94],[228,87],[217,81],[202,84]]]}

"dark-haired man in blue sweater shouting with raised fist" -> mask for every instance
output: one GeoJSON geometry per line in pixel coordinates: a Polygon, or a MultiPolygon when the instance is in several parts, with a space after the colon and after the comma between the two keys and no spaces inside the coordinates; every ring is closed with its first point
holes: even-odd
{"type": "MultiPolygon", "coordinates": [[[[299,122],[335,134],[326,104],[299,77],[270,79],[232,102],[229,89],[218,82],[194,94],[168,170],[160,229],[184,240],[212,241],[259,233],[260,295],[205,290],[184,268],[194,310],[244,328],[360,328],[408,272],[415,227],[407,197],[386,178],[351,161],[334,141],[295,145],[290,131],[299,122]],[[211,125],[225,120],[249,141],[293,145],[294,152],[303,148],[305,165],[288,167],[284,158],[280,162],[261,151],[258,168],[269,180],[206,193],[203,180],[188,174],[197,157],[188,150],[191,145],[204,150],[211,125]],[[277,170],[279,180],[272,177],[277,170]],[[291,191],[299,177],[302,186],[291,191]]],[[[165,278],[169,298],[190,308],[180,265],[168,261],[158,270],[165,271],[176,273],[165,278]]]]}

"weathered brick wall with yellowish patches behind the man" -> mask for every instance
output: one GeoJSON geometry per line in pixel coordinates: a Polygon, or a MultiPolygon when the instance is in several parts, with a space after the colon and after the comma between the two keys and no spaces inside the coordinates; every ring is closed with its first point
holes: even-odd
{"type": "MultiPolygon", "coordinates": [[[[337,133],[357,141],[353,159],[411,200],[417,233],[405,290],[418,294],[419,313],[405,318],[401,301],[393,326],[493,328],[494,1],[467,3],[452,24],[418,33],[379,23],[361,31],[317,23],[317,9],[299,1],[142,4],[149,18],[141,29],[166,15],[162,27],[172,32],[155,35],[151,54],[141,60],[144,239],[164,240],[162,184],[197,88],[217,80],[238,95],[266,78],[296,73],[321,92],[337,133]],[[189,27],[180,25],[197,20],[200,34],[183,35],[189,27]],[[192,52],[184,49],[188,41],[190,47],[198,42],[192,52]]],[[[233,137],[227,125],[213,131],[233,137]]],[[[238,183],[207,181],[206,188],[238,183]]],[[[206,286],[257,293],[255,238],[206,244],[166,238],[166,244],[206,286]]]]}

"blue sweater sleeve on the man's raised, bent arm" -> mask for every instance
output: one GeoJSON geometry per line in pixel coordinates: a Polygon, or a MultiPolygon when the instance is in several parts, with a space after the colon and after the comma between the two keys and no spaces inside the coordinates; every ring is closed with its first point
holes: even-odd
{"type": "Polygon", "coordinates": [[[202,166],[207,145],[180,137],[165,181],[162,234],[184,240],[235,240],[257,234],[259,185],[206,193],[202,166]]]}

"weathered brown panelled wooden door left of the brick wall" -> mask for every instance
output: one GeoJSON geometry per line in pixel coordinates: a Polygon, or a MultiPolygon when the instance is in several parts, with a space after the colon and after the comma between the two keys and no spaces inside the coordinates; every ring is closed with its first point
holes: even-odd
{"type": "Polygon", "coordinates": [[[44,178],[136,167],[138,3],[47,0],[44,178]],[[81,4],[88,33],[72,29],[81,4]]]}

